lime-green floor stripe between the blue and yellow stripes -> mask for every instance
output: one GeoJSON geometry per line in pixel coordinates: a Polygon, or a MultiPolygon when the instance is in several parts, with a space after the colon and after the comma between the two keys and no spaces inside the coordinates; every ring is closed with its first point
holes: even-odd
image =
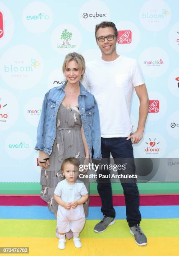
{"type": "MultiPolygon", "coordinates": [[[[115,224],[104,233],[95,233],[98,220],[87,220],[80,236],[83,238],[128,238],[131,237],[126,220],[115,224]]],[[[56,220],[6,220],[0,219],[0,237],[53,238],[56,220]]],[[[179,219],[143,219],[141,228],[147,237],[179,237],[179,219]]]]}

